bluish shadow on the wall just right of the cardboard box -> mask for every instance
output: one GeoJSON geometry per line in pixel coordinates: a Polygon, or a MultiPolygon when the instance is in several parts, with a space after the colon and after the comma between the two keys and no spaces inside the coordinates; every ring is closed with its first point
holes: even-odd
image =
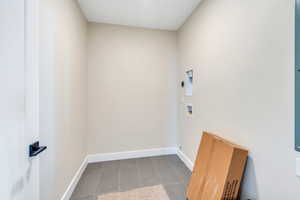
{"type": "Polygon", "coordinates": [[[257,181],[254,161],[251,156],[248,157],[245,169],[244,179],[241,184],[241,200],[257,200],[257,181]]]}

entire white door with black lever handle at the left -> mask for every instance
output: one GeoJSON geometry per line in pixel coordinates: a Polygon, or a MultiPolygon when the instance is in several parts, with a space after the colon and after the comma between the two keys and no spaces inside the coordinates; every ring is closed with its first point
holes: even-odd
{"type": "Polygon", "coordinates": [[[38,200],[37,0],[0,0],[0,199],[38,200]]]}

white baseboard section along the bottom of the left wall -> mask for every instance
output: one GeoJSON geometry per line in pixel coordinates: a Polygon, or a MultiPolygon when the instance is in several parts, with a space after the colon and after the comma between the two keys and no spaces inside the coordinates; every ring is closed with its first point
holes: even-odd
{"type": "Polygon", "coordinates": [[[68,186],[66,192],[64,193],[64,195],[62,196],[61,200],[69,200],[81,178],[81,175],[83,174],[84,170],[86,169],[88,165],[88,160],[87,158],[85,158],[82,162],[82,164],[80,165],[79,169],[77,170],[76,174],[74,175],[70,185],[68,186]]]}

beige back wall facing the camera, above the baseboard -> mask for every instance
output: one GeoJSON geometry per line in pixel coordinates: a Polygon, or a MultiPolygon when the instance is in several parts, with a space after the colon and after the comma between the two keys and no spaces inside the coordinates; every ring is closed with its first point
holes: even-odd
{"type": "Polygon", "coordinates": [[[88,152],[176,145],[176,33],[88,25],[88,152]]]}

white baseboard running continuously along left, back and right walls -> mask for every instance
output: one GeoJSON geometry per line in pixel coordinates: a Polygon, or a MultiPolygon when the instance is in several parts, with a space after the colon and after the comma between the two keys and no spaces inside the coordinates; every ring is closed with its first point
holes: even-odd
{"type": "Polygon", "coordinates": [[[75,176],[73,177],[70,185],[68,186],[61,200],[69,200],[71,198],[72,193],[75,190],[75,187],[78,184],[81,175],[86,169],[88,163],[112,161],[112,160],[124,160],[124,159],[131,159],[131,158],[145,158],[151,156],[162,156],[162,155],[171,155],[171,154],[177,154],[178,157],[182,160],[182,162],[187,166],[187,168],[190,169],[191,171],[193,170],[193,166],[194,166],[193,162],[182,151],[180,151],[176,147],[87,155],[84,161],[82,162],[80,168],[77,170],[75,176]]]}

